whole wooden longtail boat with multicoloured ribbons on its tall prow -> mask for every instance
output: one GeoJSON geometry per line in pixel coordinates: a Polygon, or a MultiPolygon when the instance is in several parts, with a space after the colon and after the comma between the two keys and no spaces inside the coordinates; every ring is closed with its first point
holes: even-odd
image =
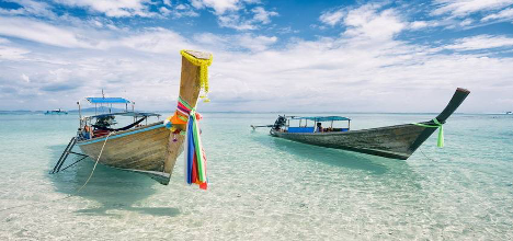
{"type": "MultiPolygon", "coordinates": [[[[180,95],[178,110],[173,116],[148,124],[148,118],[160,115],[135,112],[134,107],[128,111],[130,101],[123,97],[88,97],[87,100],[96,106],[100,104],[112,107],[112,104],[124,104],[125,111],[96,113],[84,117],[80,114],[77,136],[71,139],[52,173],[64,170],[64,161],[69,153],[73,153],[82,156],[83,159],[89,157],[107,167],[146,174],[167,185],[176,158],[184,150],[184,141],[187,139],[185,149],[189,152],[185,159],[191,162],[191,168],[187,169],[191,172],[189,183],[197,183],[206,188],[206,160],[197,135],[200,133],[197,120],[201,117],[195,112],[195,107],[201,90],[204,90],[205,94],[208,92],[206,78],[212,55],[193,50],[182,50],[181,54],[180,95]],[[113,128],[114,119],[118,116],[133,117],[133,122],[127,126],[113,128]],[[72,151],[75,145],[82,153],[72,151]]],[[[78,104],[80,112],[80,103],[78,104]]]]}

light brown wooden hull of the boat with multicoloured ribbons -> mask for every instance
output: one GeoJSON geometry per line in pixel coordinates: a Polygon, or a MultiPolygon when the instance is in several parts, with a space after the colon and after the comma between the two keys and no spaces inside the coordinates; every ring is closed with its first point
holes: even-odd
{"type": "Polygon", "coordinates": [[[101,164],[116,169],[144,173],[162,184],[168,184],[170,172],[166,172],[164,164],[169,137],[170,131],[162,122],[159,122],[110,136],[78,141],[77,145],[93,161],[98,160],[101,164]]]}

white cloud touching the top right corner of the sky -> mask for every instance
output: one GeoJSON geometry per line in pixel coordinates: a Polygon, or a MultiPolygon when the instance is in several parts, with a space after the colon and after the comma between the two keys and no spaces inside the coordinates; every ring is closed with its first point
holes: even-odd
{"type": "Polygon", "coordinates": [[[513,4],[513,0],[436,0],[437,9],[433,14],[451,14],[466,16],[475,12],[498,10],[513,4]]]}

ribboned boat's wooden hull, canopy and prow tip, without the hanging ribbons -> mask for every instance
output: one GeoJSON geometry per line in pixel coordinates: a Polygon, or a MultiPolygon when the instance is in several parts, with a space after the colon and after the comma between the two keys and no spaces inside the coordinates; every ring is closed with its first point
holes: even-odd
{"type": "MultiPolygon", "coordinates": [[[[185,56],[182,57],[180,97],[192,107],[195,107],[201,91],[201,67],[190,60],[191,57],[192,60],[212,60],[212,55],[192,50],[185,53],[190,55],[190,59],[185,58],[185,56]]],[[[123,103],[127,105],[129,103],[129,101],[121,97],[91,97],[88,100],[94,104],[123,103]]],[[[176,158],[183,151],[184,136],[174,135],[166,128],[164,122],[142,125],[142,119],[150,116],[157,116],[157,114],[128,112],[127,107],[127,112],[124,113],[81,117],[77,137],[75,140],[71,139],[62,157],[66,159],[68,153],[76,153],[71,151],[76,144],[82,150],[82,153],[93,161],[98,160],[101,164],[116,169],[144,173],[167,185],[176,158]],[[134,116],[134,123],[123,128],[113,129],[109,126],[98,125],[98,120],[96,125],[91,122],[91,119],[109,120],[113,118],[110,116],[116,115],[134,116]]],[[[173,126],[178,127],[178,133],[185,129],[184,124],[173,126]]],[[[62,165],[60,162],[64,162],[64,160],[59,160],[53,173],[60,170],[62,165]]]]}

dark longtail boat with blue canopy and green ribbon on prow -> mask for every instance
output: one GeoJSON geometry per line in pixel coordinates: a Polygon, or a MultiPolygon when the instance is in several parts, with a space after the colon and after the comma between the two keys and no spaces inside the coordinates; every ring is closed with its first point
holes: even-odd
{"type": "Polygon", "coordinates": [[[342,116],[278,116],[270,134],[293,141],[335,148],[391,159],[408,159],[437,128],[438,147],[443,147],[443,124],[465,101],[470,91],[458,88],[444,111],[429,122],[386,126],[371,129],[350,130],[351,119],[342,116]],[[304,120],[298,127],[289,126],[290,120],[304,120]],[[307,122],[314,126],[307,126],[307,122]],[[346,120],[347,128],[322,128],[323,122],[346,120]],[[320,127],[320,128],[319,128],[320,127]]]}

